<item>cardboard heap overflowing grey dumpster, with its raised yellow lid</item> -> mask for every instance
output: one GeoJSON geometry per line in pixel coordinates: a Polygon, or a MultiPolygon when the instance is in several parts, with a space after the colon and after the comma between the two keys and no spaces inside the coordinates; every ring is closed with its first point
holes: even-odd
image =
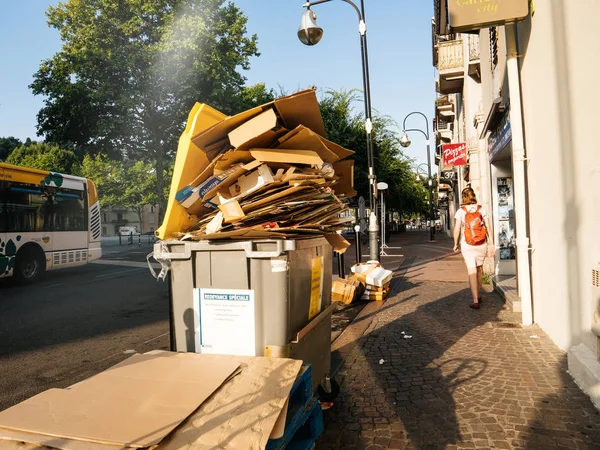
{"type": "MultiPolygon", "coordinates": [[[[188,120],[198,121],[199,111],[188,120]]],[[[352,154],[325,138],[313,90],[225,117],[195,134],[186,129],[169,202],[187,218],[179,221],[181,229],[163,225],[159,237],[335,233],[353,220],[341,217],[348,209],[343,199],[356,194],[354,161],[345,159],[352,154]]],[[[176,213],[168,208],[165,223],[176,213]]]]}

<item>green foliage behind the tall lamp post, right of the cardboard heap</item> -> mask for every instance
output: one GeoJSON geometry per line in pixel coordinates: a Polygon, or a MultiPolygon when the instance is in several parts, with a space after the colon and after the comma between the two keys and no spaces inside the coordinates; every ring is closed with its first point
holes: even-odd
{"type": "MultiPolygon", "coordinates": [[[[320,100],[321,114],[330,140],[356,153],[354,187],[359,196],[369,198],[367,163],[367,133],[364,115],[354,110],[360,100],[358,90],[327,91],[320,100]]],[[[395,123],[385,116],[375,115],[373,121],[373,153],[378,181],[389,185],[386,205],[404,215],[424,209],[427,191],[415,183],[412,161],[401,150],[399,137],[392,131],[395,123]]],[[[426,208],[425,204],[425,208],[426,208]]]]}

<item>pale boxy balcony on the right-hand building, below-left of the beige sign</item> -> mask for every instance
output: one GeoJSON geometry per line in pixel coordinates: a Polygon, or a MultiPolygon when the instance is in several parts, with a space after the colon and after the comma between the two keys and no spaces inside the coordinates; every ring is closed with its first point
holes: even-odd
{"type": "Polygon", "coordinates": [[[455,94],[462,91],[465,72],[465,58],[462,39],[439,42],[437,68],[440,94],[455,94]]]}

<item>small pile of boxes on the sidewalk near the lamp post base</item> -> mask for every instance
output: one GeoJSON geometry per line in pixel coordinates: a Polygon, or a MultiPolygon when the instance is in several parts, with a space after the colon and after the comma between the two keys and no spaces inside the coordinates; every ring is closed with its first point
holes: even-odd
{"type": "Polygon", "coordinates": [[[355,300],[383,301],[390,291],[393,272],[381,267],[378,261],[352,266],[352,275],[338,278],[331,287],[331,300],[350,304],[355,300]]]}

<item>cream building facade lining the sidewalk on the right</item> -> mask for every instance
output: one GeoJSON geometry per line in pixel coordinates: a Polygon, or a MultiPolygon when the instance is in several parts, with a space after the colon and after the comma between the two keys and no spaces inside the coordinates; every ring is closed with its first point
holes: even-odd
{"type": "MultiPolygon", "coordinates": [[[[514,0],[525,16],[461,22],[456,5],[475,14],[480,3],[434,1],[436,143],[468,149],[460,167],[444,167],[438,151],[440,172],[457,180],[446,219],[453,225],[460,190],[473,187],[497,247],[486,270],[523,324],[567,352],[569,372],[600,405],[600,2],[514,0]]],[[[508,2],[486,4],[501,15],[508,2]]]]}

